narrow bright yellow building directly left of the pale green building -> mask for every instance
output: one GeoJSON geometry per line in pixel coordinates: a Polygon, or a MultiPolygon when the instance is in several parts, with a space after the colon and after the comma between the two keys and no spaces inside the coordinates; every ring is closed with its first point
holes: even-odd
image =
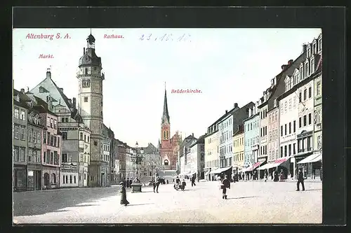
{"type": "Polygon", "coordinates": [[[233,174],[238,174],[244,167],[244,127],[239,126],[233,134],[233,174]]]}

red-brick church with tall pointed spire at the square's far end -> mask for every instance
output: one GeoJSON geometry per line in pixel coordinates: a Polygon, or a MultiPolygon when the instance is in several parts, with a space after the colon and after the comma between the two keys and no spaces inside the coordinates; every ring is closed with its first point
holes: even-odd
{"type": "Polygon", "coordinates": [[[171,137],[171,121],[168,113],[167,90],[164,89],[164,111],[161,117],[161,140],[159,140],[159,153],[164,170],[178,169],[178,152],[182,139],[177,131],[171,137]]]}

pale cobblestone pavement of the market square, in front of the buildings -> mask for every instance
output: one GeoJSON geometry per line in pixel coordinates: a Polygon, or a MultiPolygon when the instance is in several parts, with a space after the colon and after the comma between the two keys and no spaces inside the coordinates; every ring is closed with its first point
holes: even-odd
{"type": "Polygon", "coordinates": [[[322,183],[305,188],[237,182],[225,200],[216,181],[187,183],[184,192],[159,185],[159,193],[128,192],[128,206],[119,204],[119,188],[26,192],[15,194],[14,223],[322,223],[322,183]]]}

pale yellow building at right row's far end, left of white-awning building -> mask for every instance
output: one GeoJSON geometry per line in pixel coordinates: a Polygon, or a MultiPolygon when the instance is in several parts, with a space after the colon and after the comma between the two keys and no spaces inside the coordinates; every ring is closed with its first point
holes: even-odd
{"type": "Polygon", "coordinates": [[[218,160],[218,126],[216,124],[208,127],[207,134],[205,136],[205,179],[207,181],[213,181],[215,174],[211,174],[211,171],[215,171],[219,168],[218,160]]]}

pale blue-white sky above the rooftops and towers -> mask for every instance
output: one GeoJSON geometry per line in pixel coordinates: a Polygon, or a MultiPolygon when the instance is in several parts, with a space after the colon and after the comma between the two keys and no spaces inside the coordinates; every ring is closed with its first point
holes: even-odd
{"type": "Polygon", "coordinates": [[[78,62],[86,38],[92,33],[105,73],[105,125],[111,127],[116,139],[130,146],[136,141],[140,146],[157,146],[165,83],[171,135],[178,131],[183,139],[192,133],[199,137],[234,103],[239,107],[250,101],[256,103],[270,87],[270,80],[282,71],[282,64],[296,59],[303,43],[312,42],[321,32],[322,29],[13,29],[14,87],[31,90],[46,78],[46,69],[51,67],[51,78],[58,87],[68,98],[77,98],[78,62]],[[60,38],[56,38],[58,33],[60,38]],[[26,38],[28,34],[54,36],[26,38]],[[120,36],[105,37],[112,34],[120,36]],[[178,89],[201,93],[171,93],[178,89]]]}

